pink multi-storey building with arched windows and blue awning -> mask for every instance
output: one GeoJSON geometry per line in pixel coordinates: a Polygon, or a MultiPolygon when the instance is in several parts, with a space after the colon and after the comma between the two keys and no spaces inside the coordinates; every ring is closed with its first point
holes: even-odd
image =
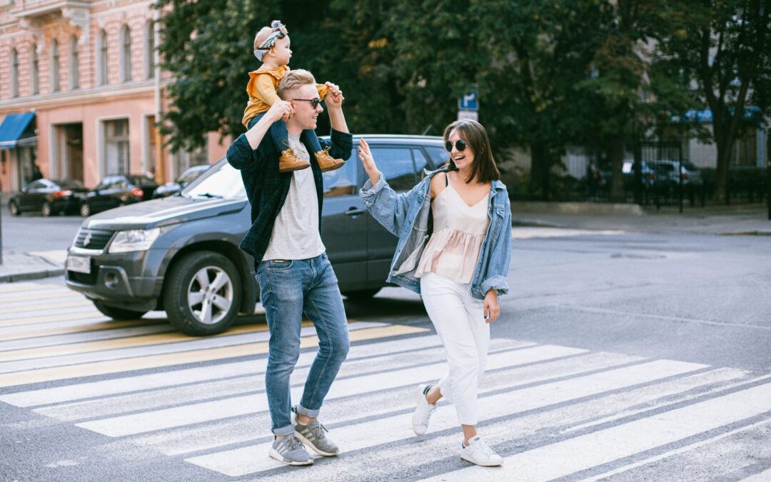
{"type": "Polygon", "coordinates": [[[159,13],[136,0],[0,0],[0,190],[44,177],[93,187],[107,174],[159,182],[224,156],[219,134],[195,152],[160,148],[167,72],[156,67],[159,13]]]}

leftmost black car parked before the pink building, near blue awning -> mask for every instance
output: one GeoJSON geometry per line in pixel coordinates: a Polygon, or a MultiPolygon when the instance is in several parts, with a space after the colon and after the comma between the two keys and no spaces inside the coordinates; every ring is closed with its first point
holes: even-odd
{"type": "Polygon", "coordinates": [[[24,211],[36,211],[43,216],[76,213],[82,196],[88,192],[79,180],[33,180],[8,200],[8,211],[18,216],[24,211]]]}

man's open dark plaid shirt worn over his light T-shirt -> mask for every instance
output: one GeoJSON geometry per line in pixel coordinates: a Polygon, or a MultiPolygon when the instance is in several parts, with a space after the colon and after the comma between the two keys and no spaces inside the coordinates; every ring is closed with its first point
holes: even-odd
{"type": "MultiPolygon", "coordinates": [[[[318,167],[315,153],[308,142],[305,132],[300,136],[308,153],[311,153],[311,170],[318,195],[318,230],[322,229],[322,203],[324,201],[324,184],[322,171],[318,167]]],[[[332,129],[329,140],[319,139],[322,149],[331,147],[332,157],[348,159],[353,147],[352,135],[332,129]]],[[[251,228],[241,241],[241,249],[254,257],[254,268],[262,260],[268,243],[271,241],[273,224],[284,206],[292,173],[278,172],[278,153],[270,135],[266,135],[257,149],[252,150],[249,141],[241,134],[231,147],[227,148],[227,162],[237,170],[241,170],[241,180],[244,181],[249,203],[251,204],[251,228]]]]}

